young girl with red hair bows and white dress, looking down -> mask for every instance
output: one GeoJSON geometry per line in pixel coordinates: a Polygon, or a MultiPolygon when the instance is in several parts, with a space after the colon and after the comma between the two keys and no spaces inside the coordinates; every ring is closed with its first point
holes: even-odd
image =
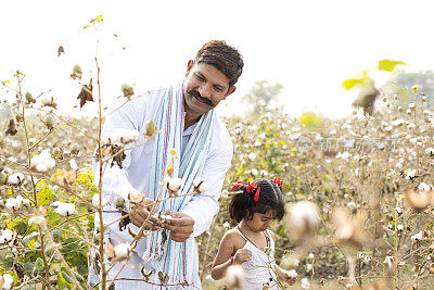
{"type": "Polygon", "coordinates": [[[296,274],[286,272],[275,261],[275,234],[268,229],[273,219],[281,220],[285,213],[280,187],[282,181],[276,178],[257,179],[245,184],[239,181],[229,204],[229,213],[239,225],[228,230],[214,260],[212,277],[219,280],[225,277],[230,265],[242,265],[245,281],[242,289],[279,289],[279,279],[295,283],[296,274]],[[279,277],[279,279],[277,278],[279,277]]]}

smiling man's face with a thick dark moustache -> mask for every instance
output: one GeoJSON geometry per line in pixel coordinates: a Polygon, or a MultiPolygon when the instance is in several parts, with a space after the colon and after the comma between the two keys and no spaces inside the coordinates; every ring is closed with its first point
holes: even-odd
{"type": "Polygon", "coordinates": [[[202,115],[231,94],[229,78],[213,65],[189,61],[183,86],[186,112],[202,115]]]}

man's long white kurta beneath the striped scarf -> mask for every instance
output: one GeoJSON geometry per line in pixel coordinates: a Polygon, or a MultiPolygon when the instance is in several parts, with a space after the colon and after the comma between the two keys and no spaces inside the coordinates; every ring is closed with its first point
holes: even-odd
{"type": "MultiPolygon", "coordinates": [[[[122,105],[120,109],[114,111],[104,124],[103,136],[111,136],[118,128],[136,129],[140,133],[145,133],[145,125],[151,119],[156,119],[156,113],[158,111],[159,102],[163,100],[166,89],[159,89],[152,91],[143,97],[132,99],[126,102],[124,99],[117,106],[122,105]],[[125,104],[124,104],[125,103],[125,104]]],[[[115,106],[115,108],[117,108],[115,106]]],[[[225,125],[218,119],[216,119],[215,130],[213,131],[210,148],[208,151],[208,156],[205,162],[202,178],[209,186],[207,192],[204,196],[194,196],[187,204],[183,213],[190,215],[194,219],[194,231],[187,242],[192,243],[191,253],[189,253],[191,262],[193,263],[193,283],[194,288],[201,289],[201,281],[199,278],[199,261],[197,261],[197,245],[195,243],[194,237],[197,237],[210,226],[214,215],[218,213],[218,198],[220,197],[221,187],[225,180],[226,172],[229,169],[230,162],[233,154],[232,142],[228,130],[225,125]]],[[[187,128],[182,134],[182,152],[187,147],[190,136],[194,129],[194,126],[187,128]]],[[[139,139],[129,144],[129,147],[136,147],[137,144],[143,143],[144,135],[141,135],[139,139]]],[[[150,142],[135,148],[132,150],[127,150],[127,157],[123,162],[123,168],[119,168],[116,163],[111,167],[105,166],[104,175],[102,178],[102,188],[104,198],[110,201],[110,204],[104,207],[104,211],[116,211],[116,198],[118,196],[128,200],[128,192],[149,192],[149,180],[150,180],[150,166],[152,163],[152,152],[155,138],[150,142]]],[[[93,164],[93,172],[95,177],[95,184],[99,182],[99,164],[93,164]]],[[[120,213],[104,213],[104,224],[111,223],[112,220],[118,219],[120,213]]],[[[95,215],[95,225],[99,225],[99,217],[95,215]]],[[[135,230],[138,228],[129,224],[135,230]]],[[[131,242],[132,237],[129,236],[128,230],[125,229],[119,231],[118,223],[113,224],[108,227],[107,236],[112,240],[112,243],[116,244],[118,241],[131,242]]],[[[123,273],[117,278],[136,278],[141,279],[140,274],[141,267],[144,265],[146,269],[151,269],[149,265],[141,259],[145,249],[145,239],[141,240],[136,251],[139,255],[133,254],[130,260],[129,265],[127,265],[123,273]]],[[[113,276],[117,270],[112,270],[110,276],[113,276]]],[[[98,283],[99,279],[94,275],[93,270],[90,270],[90,282],[98,283]]],[[[159,283],[156,275],[153,275],[155,280],[151,280],[155,283],[159,283]]],[[[139,287],[139,289],[151,289],[152,287],[142,281],[127,281],[119,280],[116,281],[117,289],[129,289],[131,287],[139,287]]],[[[158,287],[159,289],[159,287],[158,287]]],[[[170,287],[170,289],[175,289],[170,287]]]]}

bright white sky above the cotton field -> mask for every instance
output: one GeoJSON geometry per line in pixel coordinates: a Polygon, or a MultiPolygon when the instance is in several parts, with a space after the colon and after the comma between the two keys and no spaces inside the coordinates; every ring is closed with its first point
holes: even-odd
{"type": "MultiPolygon", "coordinates": [[[[119,96],[123,83],[140,92],[182,79],[203,43],[225,39],[245,66],[220,111],[242,110],[243,93],[267,79],[283,85],[282,101],[294,116],[345,116],[354,93],[341,83],[379,60],[407,62],[409,71],[434,67],[433,8],[417,0],[8,1],[0,10],[0,80],[20,68],[25,90],[52,89],[66,110],[79,92],[72,67],[80,64],[85,79],[95,72],[97,34],[105,100],[119,96]],[[98,33],[82,29],[99,14],[98,33]],[[58,58],[60,45],[65,53],[58,58]]],[[[381,83],[386,75],[374,77],[381,83]]]]}

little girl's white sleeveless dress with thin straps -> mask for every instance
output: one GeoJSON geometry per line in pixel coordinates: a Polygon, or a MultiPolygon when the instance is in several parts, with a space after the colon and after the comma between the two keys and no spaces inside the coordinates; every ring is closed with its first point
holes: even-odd
{"type": "Polygon", "coordinates": [[[268,289],[280,289],[277,282],[275,267],[275,241],[271,238],[270,230],[267,229],[269,237],[269,249],[258,249],[252,243],[240,230],[237,231],[245,240],[243,249],[252,252],[252,260],[241,264],[245,270],[245,281],[242,287],[243,290],[263,290],[264,286],[268,289]]]}

